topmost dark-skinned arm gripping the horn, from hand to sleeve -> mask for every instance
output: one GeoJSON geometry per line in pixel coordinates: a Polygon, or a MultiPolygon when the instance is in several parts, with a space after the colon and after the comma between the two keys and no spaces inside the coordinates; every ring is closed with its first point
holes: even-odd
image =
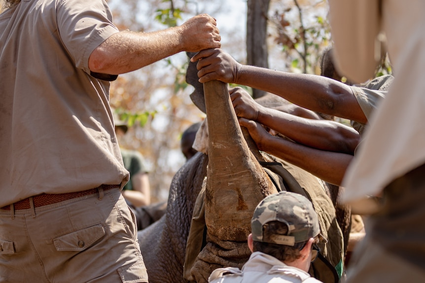
{"type": "Polygon", "coordinates": [[[318,75],[295,74],[242,65],[220,49],[202,50],[191,58],[201,83],[219,80],[277,94],[301,107],[366,123],[351,88],[318,75]]]}

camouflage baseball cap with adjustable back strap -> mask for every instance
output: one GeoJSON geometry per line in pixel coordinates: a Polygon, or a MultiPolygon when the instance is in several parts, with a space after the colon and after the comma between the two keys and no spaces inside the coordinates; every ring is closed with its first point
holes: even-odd
{"type": "Polygon", "coordinates": [[[287,246],[307,241],[320,233],[318,216],[310,200],[288,191],[269,195],[257,205],[251,219],[251,229],[254,241],[287,246]],[[285,223],[288,233],[264,237],[264,225],[270,221],[285,223]]]}

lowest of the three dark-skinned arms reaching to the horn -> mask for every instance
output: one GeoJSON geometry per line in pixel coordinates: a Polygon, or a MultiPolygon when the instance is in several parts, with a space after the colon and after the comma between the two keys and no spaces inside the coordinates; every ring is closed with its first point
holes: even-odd
{"type": "Polygon", "coordinates": [[[340,186],[352,155],[313,149],[280,137],[274,137],[254,121],[239,119],[248,128],[258,149],[282,158],[315,175],[319,179],[340,186]]]}

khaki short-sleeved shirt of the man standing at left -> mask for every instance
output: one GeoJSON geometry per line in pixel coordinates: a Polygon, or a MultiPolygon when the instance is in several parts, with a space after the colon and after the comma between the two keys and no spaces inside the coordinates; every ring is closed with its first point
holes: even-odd
{"type": "Polygon", "coordinates": [[[22,0],[0,14],[0,207],[128,180],[92,51],[118,32],[105,0],[22,0]]]}

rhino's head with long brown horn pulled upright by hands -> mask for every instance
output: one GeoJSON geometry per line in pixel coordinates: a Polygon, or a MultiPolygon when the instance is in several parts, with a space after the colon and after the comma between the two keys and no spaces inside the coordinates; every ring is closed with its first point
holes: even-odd
{"type": "MultiPolygon", "coordinates": [[[[187,76],[193,74],[190,68],[187,76]]],[[[259,164],[262,156],[248,131],[239,126],[227,84],[210,81],[201,84],[201,89],[197,78],[186,80],[195,86],[191,98],[205,110],[209,131],[204,199],[207,245],[191,269],[199,283],[207,282],[215,268],[242,267],[250,255],[247,238],[253,211],[277,189],[259,164]]]]}

